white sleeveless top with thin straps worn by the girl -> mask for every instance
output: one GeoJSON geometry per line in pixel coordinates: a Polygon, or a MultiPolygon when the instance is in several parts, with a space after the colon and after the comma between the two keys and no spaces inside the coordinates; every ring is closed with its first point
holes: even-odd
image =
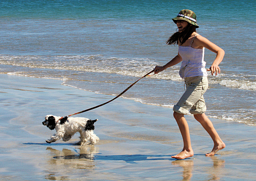
{"type": "Polygon", "coordinates": [[[179,72],[181,78],[207,76],[206,62],[204,62],[204,47],[202,49],[191,47],[195,37],[196,35],[190,46],[179,46],[178,53],[182,58],[179,72]]]}

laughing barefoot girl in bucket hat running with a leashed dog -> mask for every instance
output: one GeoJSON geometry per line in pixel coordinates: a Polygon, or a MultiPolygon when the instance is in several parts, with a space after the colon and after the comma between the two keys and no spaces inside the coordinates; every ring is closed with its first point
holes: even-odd
{"type": "Polygon", "coordinates": [[[194,115],[195,119],[202,124],[204,129],[210,134],[214,146],[207,156],[214,155],[217,151],[225,148],[225,143],[219,137],[217,131],[214,129],[211,121],[204,114],[206,112],[206,105],[203,94],[208,88],[207,71],[211,74],[217,75],[221,72],[219,63],[224,57],[224,50],[210,42],[208,39],[196,33],[196,14],[188,9],[183,9],[172,19],[177,24],[178,32],[174,33],[168,40],[167,44],[178,44],[178,55],[164,66],[156,66],[155,73],[159,73],[166,68],[169,68],[181,62],[180,76],[184,78],[186,84],[186,91],[181,99],[173,107],[173,116],[178,123],[183,139],[183,150],[172,156],[176,159],[185,159],[194,155],[189,135],[189,128],[184,115],[190,113],[194,115]],[[216,53],[216,58],[209,69],[205,69],[206,62],[204,62],[204,47],[216,53]]]}

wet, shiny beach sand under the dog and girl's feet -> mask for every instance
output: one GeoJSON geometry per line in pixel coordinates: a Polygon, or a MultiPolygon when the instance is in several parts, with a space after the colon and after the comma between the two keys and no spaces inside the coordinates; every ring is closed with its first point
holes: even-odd
{"type": "Polygon", "coordinates": [[[70,115],[113,96],[61,85],[61,80],[7,74],[0,79],[2,181],[256,180],[255,126],[211,118],[226,148],[206,157],[213,142],[192,116],[186,116],[195,155],[176,160],[171,155],[179,153],[183,143],[172,108],[118,98],[74,116],[99,119],[94,124],[97,145],[74,145],[78,134],[68,142],[48,144],[45,140],[55,130],[42,125],[45,115],[70,115]]]}

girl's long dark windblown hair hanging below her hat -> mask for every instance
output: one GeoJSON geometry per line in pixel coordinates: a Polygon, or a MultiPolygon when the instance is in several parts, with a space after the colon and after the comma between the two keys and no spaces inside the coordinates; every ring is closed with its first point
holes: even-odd
{"type": "Polygon", "coordinates": [[[167,41],[168,45],[178,45],[178,41],[181,45],[187,41],[193,32],[196,32],[196,26],[193,24],[188,24],[181,32],[175,32],[167,41]]]}

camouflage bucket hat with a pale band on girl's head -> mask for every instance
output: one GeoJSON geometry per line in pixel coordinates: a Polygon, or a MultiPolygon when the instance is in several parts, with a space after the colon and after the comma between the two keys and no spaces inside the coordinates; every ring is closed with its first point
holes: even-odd
{"type": "Polygon", "coordinates": [[[195,25],[196,28],[199,28],[199,26],[196,24],[196,14],[189,9],[181,10],[177,17],[173,18],[172,20],[175,24],[177,23],[177,20],[184,20],[190,24],[195,25]]]}

